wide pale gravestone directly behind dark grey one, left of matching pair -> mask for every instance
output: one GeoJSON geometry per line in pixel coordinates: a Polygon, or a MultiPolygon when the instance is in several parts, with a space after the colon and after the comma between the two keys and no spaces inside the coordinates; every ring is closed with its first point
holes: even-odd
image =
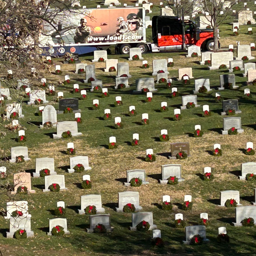
{"type": "Polygon", "coordinates": [[[78,210],[79,214],[85,214],[84,209],[88,205],[94,205],[97,213],[104,213],[105,209],[101,204],[101,195],[85,195],[81,196],[81,209],[78,210]]]}

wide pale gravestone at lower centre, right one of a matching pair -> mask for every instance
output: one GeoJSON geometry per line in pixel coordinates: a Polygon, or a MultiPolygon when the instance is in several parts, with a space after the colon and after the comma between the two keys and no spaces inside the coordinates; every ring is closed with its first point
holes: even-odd
{"type": "Polygon", "coordinates": [[[127,203],[132,203],[135,207],[135,211],[142,210],[138,191],[118,192],[118,208],[116,208],[116,211],[123,212],[123,208],[127,203]]]}

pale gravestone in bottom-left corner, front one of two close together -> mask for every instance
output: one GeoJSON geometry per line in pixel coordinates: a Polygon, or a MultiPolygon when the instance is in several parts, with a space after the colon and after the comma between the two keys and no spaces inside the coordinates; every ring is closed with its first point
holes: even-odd
{"type": "Polygon", "coordinates": [[[28,216],[10,217],[10,230],[6,232],[7,238],[13,238],[14,233],[19,229],[25,229],[27,237],[33,237],[34,232],[31,230],[31,218],[28,216]]]}

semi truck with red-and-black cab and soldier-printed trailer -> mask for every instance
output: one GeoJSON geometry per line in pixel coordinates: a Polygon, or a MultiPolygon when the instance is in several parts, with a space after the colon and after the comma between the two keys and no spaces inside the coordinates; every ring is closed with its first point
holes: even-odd
{"type": "MultiPolygon", "coordinates": [[[[139,47],[142,53],[182,49],[182,20],[175,16],[152,18],[152,41],[146,41],[145,9],[142,7],[80,9],[55,15],[56,29],[44,24],[39,46],[44,55],[86,54],[115,45],[117,54],[139,47]]],[[[186,46],[213,49],[213,29],[199,29],[184,20],[186,46]]]]}

